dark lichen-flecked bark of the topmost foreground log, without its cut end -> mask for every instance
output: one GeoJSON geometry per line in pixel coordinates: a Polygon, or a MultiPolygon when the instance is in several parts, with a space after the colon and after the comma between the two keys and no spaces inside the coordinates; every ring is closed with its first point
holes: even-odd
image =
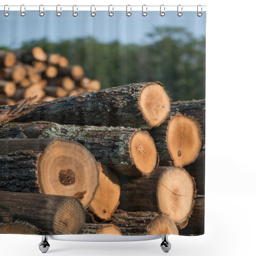
{"type": "Polygon", "coordinates": [[[146,84],[128,84],[52,100],[15,121],[149,127],[138,105],[141,89],[146,84]]]}

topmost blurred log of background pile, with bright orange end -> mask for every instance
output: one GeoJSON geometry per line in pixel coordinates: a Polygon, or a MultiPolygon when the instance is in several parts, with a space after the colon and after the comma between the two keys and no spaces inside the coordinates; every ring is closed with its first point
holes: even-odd
{"type": "Polygon", "coordinates": [[[21,62],[29,64],[31,64],[34,60],[46,61],[48,58],[47,54],[39,46],[34,47],[32,50],[18,51],[16,52],[16,57],[21,62]]]}

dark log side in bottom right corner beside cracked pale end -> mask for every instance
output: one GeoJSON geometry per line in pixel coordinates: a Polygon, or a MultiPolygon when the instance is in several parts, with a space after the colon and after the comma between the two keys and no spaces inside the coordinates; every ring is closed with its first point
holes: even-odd
{"type": "Polygon", "coordinates": [[[180,230],[180,235],[197,236],[204,234],[204,196],[196,196],[193,213],[188,225],[180,230]]]}

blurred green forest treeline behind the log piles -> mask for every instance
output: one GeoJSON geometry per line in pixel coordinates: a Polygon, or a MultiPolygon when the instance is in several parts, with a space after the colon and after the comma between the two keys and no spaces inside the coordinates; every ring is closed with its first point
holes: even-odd
{"type": "Polygon", "coordinates": [[[60,53],[71,65],[81,65],[85,76],[98,79],[102,89],[160,81],[175,101],[204,99],[205,37],[198,39],[184,28],[172,27],[155,28],[148,37],[151,44],[102,43],[93,37],[61,42],[44,38],[24,42],[20,49],[40,46],[47,54],[60,53]]]}

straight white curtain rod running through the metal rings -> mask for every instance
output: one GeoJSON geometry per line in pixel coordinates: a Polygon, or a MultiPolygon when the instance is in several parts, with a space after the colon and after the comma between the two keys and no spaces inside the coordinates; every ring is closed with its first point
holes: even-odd
{"type": "MultiPolygon", "coordinates": [[[[162,11],[177,11],[178,5],[162,5],[162,11]]],[[[199,11],[206,11],[206,5],[199,6],[199,11]]],[[[142,11],[142,5],[111,5],[111,11],[142,11]]],[[[160,5],[144,5],[144,10],[159,11],[160,5]]],[[[0,5],[0,10],[4,10],[4,5],[0,5]]],[[[23,11],[39,11],[39,5],[22,5],[23,11]]],[[[56,11],[56,5],[41,5],[41,11],[56,11]]],[[[75,11],[91,11],[91,5],[76,5],[75,11]]],[[[108,5],[93,5],[93,11],[108,11],[108,5]]],[[[197,5],[179,5],[179,10],[184,11],[197,11],[197,5]],[[182,9],[181,9],[182,8],[182,9]]],[[[6,5],[5,11],[20,11],[20,5],[6,5]]],[[[58,11],[73,11],[73,5],[59,5],[58,11]]]]}

